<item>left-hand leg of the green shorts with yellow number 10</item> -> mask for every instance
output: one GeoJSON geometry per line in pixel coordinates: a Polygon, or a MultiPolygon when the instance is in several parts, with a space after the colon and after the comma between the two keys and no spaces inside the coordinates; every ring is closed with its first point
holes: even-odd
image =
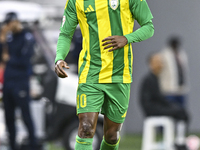
{"type": "Polygon", "coordinates": [[[77,114],[100,112],[104,93],[96,84],[81,83],[77,90],[77,114]]]}

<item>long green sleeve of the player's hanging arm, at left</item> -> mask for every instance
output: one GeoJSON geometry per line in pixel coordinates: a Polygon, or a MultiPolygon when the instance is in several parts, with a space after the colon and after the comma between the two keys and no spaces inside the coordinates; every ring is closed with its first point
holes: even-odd
{"type": "Polygon", "coordinates": [[[68,0],[66,4],[57,42],[55,63],[58,60],[64,60],[69,53],[71,40],[78,24],[74,1],[68,0]]]}

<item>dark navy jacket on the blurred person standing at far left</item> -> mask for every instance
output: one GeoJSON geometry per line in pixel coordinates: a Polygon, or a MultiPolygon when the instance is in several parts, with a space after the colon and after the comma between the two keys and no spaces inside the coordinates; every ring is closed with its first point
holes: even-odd
{"type": "MultiPolygon", "coordinates": [[[[17,34],[8,34],[7,45],[10,56],[6,63],[4,82],[28,79],[31,70],[31,56],[34,48],[34,37],[28,30],[17,34]]],[[[0,45],[2,52],[2,46],[0,45]]]]}

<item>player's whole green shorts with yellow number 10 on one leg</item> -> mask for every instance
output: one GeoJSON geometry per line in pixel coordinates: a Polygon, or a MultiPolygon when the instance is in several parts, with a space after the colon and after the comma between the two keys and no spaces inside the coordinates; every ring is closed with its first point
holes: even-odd
{"type": "Polygon", "coordinates": [[[101,112],[123,123],[128,110],[130,83],[81,83],[77,90],[77,114],[101,112]]]}

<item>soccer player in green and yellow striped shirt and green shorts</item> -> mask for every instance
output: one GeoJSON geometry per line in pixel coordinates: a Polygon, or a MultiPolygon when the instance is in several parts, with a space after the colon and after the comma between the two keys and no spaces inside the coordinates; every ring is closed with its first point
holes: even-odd
{"type": "MultiPolygon", "coordinates": [[[[152,14],[146,0],[67,0],[57,43],[55,72],[63,68],[79,23],[83,49],[79,55],[75,150],[92,150],[98,114],[104,114],[100,150],[117,150],[132,82],[132,46],[153,36],[152,14]],[[140,28],[133,32],[134,20],[140,28]]],[[[69,77],[70,78],[70,77],[69,77]]],[[[67,92],[67,91],[66,91],[67,92]]]]}

